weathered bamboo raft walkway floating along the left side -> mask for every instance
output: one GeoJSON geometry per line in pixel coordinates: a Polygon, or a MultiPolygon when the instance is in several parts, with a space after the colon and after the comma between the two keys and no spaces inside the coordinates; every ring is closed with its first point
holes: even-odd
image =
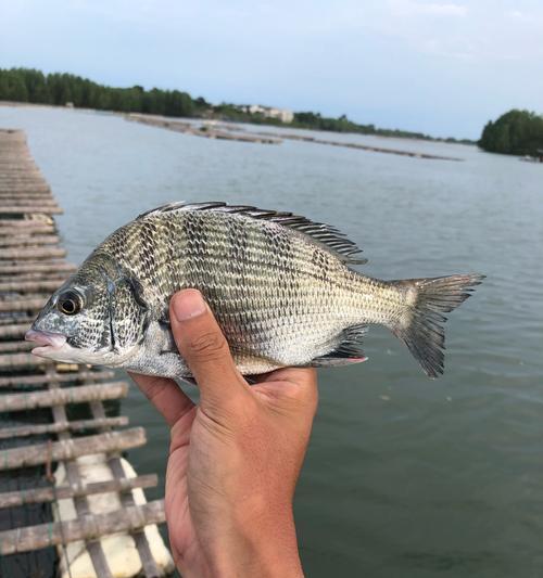
{"type": "Polygon", "coordinates": [[[114,532],[134,539],[139,576],[165,576],[171,568],[157,564],[146,531],[164,523],[164,502],[141,503],[132,493],[156,486],[157,476],[127,476],[121,458],[146,444],[146,432],[116,429],[128,419],[104,407],[118,404],[128,384],[114,381],[112,371],[36,358],[23,341],[75,269],[59,245],[52,216],[61,213],[24,133],[0,129],[0,576],[55,576],[58,554],[66,564],[68,544],[83,541],[96,576],[113,577],[102,539],[114,532]],[[103,455],[111,475],[87,483],[80,460],[94,454],[103,455]],[[54,466],[65,473],[61,485],[54,466]],[[92,512],[90,500],[108,492],[121,508],[92,512]],[[73,501],[76,519],[62,519],[61,500],[73,501]]]}

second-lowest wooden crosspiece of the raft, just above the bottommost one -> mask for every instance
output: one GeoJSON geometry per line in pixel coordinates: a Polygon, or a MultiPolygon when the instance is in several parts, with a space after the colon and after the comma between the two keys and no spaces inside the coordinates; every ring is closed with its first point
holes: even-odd
{"type": "Polygon", "coordinates": [[[52,487],[46,487],[7,491],[0,493],[0,508],[53,502],[79,496],[92,496],[112,491],[130,491],[136,488],[154,488],[157,484],[159,477],[156,474],[148,474],[144,476],[108,479],[90,484],[79,481],[76,486],[56,486],[54,489],[52,487]]]}

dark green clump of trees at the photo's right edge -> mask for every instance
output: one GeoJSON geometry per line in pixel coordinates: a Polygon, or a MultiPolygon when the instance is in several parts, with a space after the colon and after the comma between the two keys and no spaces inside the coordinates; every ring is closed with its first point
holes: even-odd
{"type": "Polygon", "coordinates": [[[543,116],[513,110],[497,120],[489,120],[478,142],[483,151],[514,155],[541,155],[543,116]]]}

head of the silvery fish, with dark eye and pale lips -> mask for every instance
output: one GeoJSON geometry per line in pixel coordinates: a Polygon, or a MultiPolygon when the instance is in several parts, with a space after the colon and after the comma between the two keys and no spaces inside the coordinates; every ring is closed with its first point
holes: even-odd
{"type": "Polygon", "coordinates": [[[141,287],[111,264],[86,261],[50,297],[27,341],[33,354],[67,363],[121,365],[136,354],[148,323],[141,287]]]}

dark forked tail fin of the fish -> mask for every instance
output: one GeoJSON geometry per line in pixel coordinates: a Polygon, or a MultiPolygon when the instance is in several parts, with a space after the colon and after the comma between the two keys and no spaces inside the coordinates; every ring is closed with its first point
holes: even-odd
{"type": "Polygon", "coordinates": [[[452,311],[472,293],[484,275],[464,274],[434,279],[392,281],[405,291],[408,309],[393,325],[392,332],[409,348],[429,377],[443,373],[445,334],[443,313],[452,311]]]}

